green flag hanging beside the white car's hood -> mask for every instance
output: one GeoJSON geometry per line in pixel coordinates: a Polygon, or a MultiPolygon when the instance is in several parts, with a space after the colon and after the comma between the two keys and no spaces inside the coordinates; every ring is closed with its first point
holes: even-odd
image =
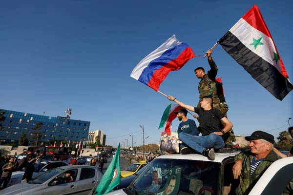
{"type": "Polygon", "coordinates": [[[104,195],[120,184],[120,143],[115,156],[102,177],[95,195],[104,195]]]}

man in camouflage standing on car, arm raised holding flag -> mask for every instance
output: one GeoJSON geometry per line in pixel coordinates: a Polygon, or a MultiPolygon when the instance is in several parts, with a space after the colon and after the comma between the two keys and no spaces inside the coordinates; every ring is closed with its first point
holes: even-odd
{"type": "MultiPolygon", "coordinates": [[[[210,96],[212,97],[212,101],[213,101],[212,108],[217,108],[221,110],[221,112],[225,115],[225,117],[227,117],[228,105],[225,101],[225,97],[223,94],[222,83],[216,81],[218,67],[216,63],[213,61],[213,59],[211,58],[211,53],[212,53],[212,49],[209,49],[207,51],[208,62],[210,66],[210,70],[208,71],[208,74],[205,74],[205,69],[203,67],[198,67],[194,70],[195,76],[197,78],[201,78],[198,85],[199,103],[197,107],[200,108],[200,102],[203,97],[210,96]]],[[[223,122],[222,124],[224,126],[226,125],[223,122]]],[[[232,142],[236,141],[236,138],[232,129],[225,134],[224,141],[226,145],[229,145],[230,147],[232,147],[232,142]]]]}

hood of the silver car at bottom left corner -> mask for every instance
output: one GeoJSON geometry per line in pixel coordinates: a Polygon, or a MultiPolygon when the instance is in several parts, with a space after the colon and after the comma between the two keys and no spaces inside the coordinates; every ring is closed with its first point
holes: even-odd
{"type": "Polygon", "coordinates": [[[26,194],[25,191],[30,190],[30,193],[32,192],[32,189],[37,190],[38,188],[42,188],[43,185],[38,184],[29,184],[29,183],[18,183],[11,187],[5,188],[0,191],[1,195],[18,195],[18,194],[26,194]]]}

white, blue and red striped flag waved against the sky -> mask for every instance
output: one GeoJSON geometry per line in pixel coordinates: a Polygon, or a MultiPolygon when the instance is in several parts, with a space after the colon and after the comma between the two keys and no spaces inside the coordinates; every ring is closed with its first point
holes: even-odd
{"type": "Polygon", "coordinates": [[[142,59],[133,69],[130,77],[158,91],[169,72],[179,70],[193,57],[195,55],[188,44],[180,42],[173,35],[142,59]]]}

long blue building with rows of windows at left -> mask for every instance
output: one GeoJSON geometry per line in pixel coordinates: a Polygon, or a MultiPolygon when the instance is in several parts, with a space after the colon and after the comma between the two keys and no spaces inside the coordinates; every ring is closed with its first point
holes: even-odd
{"type": "Polygon", "coordinates": [[[66,117],[48,117],[21,113],[11,110],[4,110],[4,118],[0,121],[0,142],[1,144],[18,143],[21,134],[26,134],[30,141],[35,132],[33,127],[42,122],[39,141],[56,141],[63,140],[72,143],[73,141],[87,140],[89,121],[73,120],[66,117]]]}

